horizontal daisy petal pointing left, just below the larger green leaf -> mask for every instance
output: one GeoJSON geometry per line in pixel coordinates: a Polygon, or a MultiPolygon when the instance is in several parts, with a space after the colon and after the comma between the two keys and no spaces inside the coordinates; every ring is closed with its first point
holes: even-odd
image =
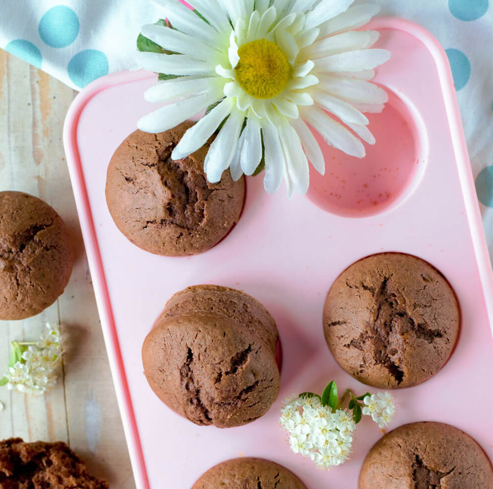
{"type": "Polygon", "coordinates": [[[191,60],[182,54],[137,52],[137,62],[144,70],[167,75],[213,75],[211,65],[191,60]]]}

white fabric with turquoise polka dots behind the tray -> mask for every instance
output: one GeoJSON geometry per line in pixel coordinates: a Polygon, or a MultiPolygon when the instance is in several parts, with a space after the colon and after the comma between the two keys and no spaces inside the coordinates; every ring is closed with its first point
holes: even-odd
{"type": "MultiPolygon", "coordinates": [[[[446,50],[493,256],[493,0],[355,4],[367,1],[383,15],[421,24],[446,50]]],[[[1,9],[0,47],[76,90],[108,72],[136,68],[140,28],[161,17],[150,0],[15,0],[1,9]]]]}

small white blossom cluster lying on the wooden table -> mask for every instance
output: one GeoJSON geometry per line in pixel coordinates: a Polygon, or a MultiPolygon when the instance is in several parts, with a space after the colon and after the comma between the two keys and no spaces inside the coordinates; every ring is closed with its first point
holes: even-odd
{"type": "Polygon", "coordinates": [[[8,367],[7,387],[34,396],[43,395],[56,384],[61,356],[60,332],[47,323],[40,341],[29,346],[22,358],[8,367]]]}

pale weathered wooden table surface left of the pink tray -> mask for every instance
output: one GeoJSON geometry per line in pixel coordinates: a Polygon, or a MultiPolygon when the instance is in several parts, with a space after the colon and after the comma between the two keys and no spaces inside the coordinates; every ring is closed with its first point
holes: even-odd
{"type": "Polygon", "coordinates": [[[0,50],[0,191],[40,197],[67,223],[76,261],[65,293],[42,314],[0,321],[0,377],[10,341],[37,340],[45,322],[60,324],[63,371],[56,387],[33,398],[0,387],[0,439],[64,441],[110,488],[134,478],[111,381],[103,334],[65,162],[62,128],[76,92],[0,50]]]}

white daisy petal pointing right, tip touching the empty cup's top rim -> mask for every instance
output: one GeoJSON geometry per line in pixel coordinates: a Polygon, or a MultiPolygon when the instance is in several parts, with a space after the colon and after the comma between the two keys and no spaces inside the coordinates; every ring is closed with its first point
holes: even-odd
{"type": "Polygon", "coordinates": [[[348,102],[385,104],[388,101],[387,92],[374,83],[330,75],[319,75],[319,80],[321,90],[341,97],[348,102]]]}

